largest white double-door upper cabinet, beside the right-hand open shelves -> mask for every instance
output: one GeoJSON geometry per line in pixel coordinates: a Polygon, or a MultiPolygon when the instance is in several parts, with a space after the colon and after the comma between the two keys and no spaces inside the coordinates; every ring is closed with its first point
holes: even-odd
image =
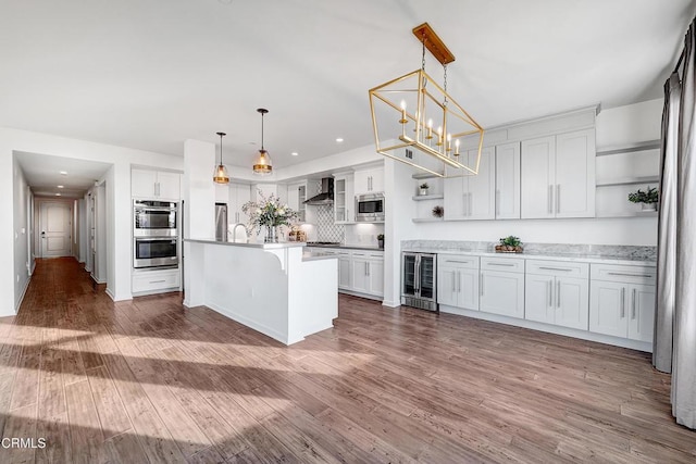
{"type": "Polygon", "coordinates": [[[521,217],[595,215],[595,130],[522,141],[521,217]]]}

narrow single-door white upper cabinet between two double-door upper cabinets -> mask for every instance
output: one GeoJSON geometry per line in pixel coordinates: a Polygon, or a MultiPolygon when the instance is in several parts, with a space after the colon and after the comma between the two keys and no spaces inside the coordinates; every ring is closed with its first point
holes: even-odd
{"type": "Polygon", "coordinates": [[[496,146],[496,220],[520,218],[520,143],[496,146]]]}

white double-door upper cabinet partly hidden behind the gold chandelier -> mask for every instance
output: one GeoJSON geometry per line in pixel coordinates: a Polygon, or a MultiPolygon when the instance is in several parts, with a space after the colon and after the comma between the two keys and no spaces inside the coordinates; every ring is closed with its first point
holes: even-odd
{"type": "MultiPolygon", "coordinates": [[[[475,164],[477,150],[462,154],[468,165],[475,164]]],[[[495,155],[494,148],[481,151],[477,175],[464,175],[445,179],[445,220],[493,220],[495,218],[495,155]]],[[[450,171],[451,173],[451,171],[450,171]]]]}

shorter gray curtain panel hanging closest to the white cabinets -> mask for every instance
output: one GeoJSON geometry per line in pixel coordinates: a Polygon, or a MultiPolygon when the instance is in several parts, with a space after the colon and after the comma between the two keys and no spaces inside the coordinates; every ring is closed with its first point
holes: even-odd
{"type": "Polygon", "coordinates": [[[657,314],[652,365],[672,372],[674,278],[676,275],[676,152],[681,84],[672,73],[664,83],[662,147],[660,149],[660,208],[657,231],[657,314]]]}

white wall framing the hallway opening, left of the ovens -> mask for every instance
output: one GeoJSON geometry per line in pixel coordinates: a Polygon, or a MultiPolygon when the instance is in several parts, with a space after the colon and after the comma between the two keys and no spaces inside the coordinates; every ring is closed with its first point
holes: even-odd
{"type": "MultiPolygon", "coordinates": [[[[113,209],[113,214],[110,216],[113,221],[110,220],[107,224],[110,258],[107,288],[114,300],[130,299],[130,165],[183,171],[184,160],[181,156],[0,127],[1,217],[14,217],[16,196],[14,195],[13,152],[15,151],[113,164],[110,171],[112,181],[107,183],[107,188],[110,190],[107,195],[110,199],[107,205],[108,212],[109,209],[113,209]]],[[[11,244],[14,243],[14,221],[0,223],[0,243],[3,243],[0,246],[4,247],[2,255],[10,256],[10,253],[15,251],[11,244]]],[[[7,260],[0,263],[0,316],[14,314],[16,273],[13,261],[7,260]]]]}

